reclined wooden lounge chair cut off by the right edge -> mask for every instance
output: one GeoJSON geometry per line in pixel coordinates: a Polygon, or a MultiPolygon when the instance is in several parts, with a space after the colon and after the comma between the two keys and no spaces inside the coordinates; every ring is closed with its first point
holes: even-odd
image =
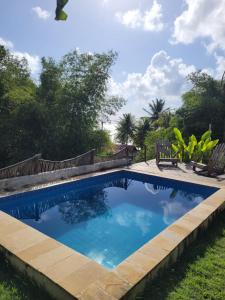
{"type": "Polygon", "coordinates": [[[216,146],[207,165],[195,161],[191,161],[191,165],[194,172],[202,175],[210,176],[214,174],[223,174],[225,169],[225,144],[216,146]]]}

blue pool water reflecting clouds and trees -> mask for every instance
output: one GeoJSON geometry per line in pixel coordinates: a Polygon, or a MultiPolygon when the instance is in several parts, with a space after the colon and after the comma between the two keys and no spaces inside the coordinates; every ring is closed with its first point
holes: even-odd
{"type": "Polygon", "coordinates": [[[217,189],[120,171],[0,199],[0,210],[113,269],[217,189]]]}

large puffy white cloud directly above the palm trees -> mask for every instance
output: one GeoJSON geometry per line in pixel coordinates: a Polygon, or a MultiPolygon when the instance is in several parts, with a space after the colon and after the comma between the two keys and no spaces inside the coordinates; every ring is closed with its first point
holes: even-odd
{"type": "Polygon", "coordinates": [[[165,51],[155,53],[144,73],[130,73],[122,83],[111,79],[110,93],[129,99],[129,110],[143,115],[142,108],[152,99],[164,98],[167,105],[177,107],[181,104],[181,94],[189,85],[186,76],[196,70],[181,58],[171,58],[165,51]]]}

